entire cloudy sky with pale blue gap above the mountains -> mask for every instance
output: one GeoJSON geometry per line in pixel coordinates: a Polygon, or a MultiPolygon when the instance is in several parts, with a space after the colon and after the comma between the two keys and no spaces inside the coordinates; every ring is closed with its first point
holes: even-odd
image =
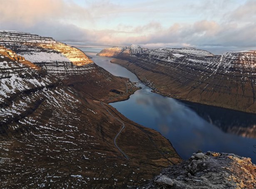
{"type": "Polygon", "coordinates": [[[0,29],[77,47],[256,49],[256,0],[0,0],[0,29]]]}

